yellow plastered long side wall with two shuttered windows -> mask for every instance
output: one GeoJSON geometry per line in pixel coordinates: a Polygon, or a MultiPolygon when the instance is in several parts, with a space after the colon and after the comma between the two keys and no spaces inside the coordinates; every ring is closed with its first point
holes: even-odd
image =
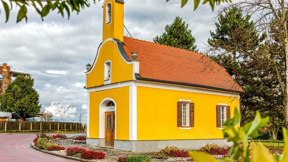
{"type": "Polygon", "coordinates": [[[216,127],[218,103],[231,107],[231,118],[239,107],[238,97],[137,86],[137,140],[223,139],[222,129],[216,127]],[[191,129],[177,127],[179,99],[195,103],[191,129]]]}

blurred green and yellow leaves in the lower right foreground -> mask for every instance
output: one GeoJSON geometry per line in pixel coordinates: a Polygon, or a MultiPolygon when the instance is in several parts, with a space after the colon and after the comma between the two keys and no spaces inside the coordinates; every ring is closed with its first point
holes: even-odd
{"type": "Polygon", "coordinates": [[[288,137],[286,129],[283,128],[284,136],[284,151],[283,155],[271,156],[268,149],[261,143],[251,143],[250,147],[248,144],[248,137],[259,136],[258,130],[262,128],[268,121],[269,117],[261,118],[259,112],[256,113],[255,119],[245,126],[239,127],[238,124],[241,120],[241,115],[235,108],[235,115],[233,118],[227,119],[224,123],[225,128],[223,129],[224,138],[228,141],[233,142],[233,146],[229,152],[231,157],[224,158],[222,160],[216,160],[209,154],[201,153],[197,151],[189,152],[195,162],[228,162],[228,161],[241,161],[241,162],[258,162],[258,161],[271,161],[271,162],[284,162],[288,161],[288,137]],[[252,148],[252,157],[249,157],[249,148],[252,148]]]}

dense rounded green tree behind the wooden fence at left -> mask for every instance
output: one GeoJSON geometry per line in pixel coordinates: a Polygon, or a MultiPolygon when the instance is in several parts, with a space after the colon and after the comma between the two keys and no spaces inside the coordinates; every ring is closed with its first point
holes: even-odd
{"type": "Polygon", "coordinates": [[[33,88],[34,79],[30,76],[19,75],[9,83],[5,92],[0,97],[0,110],[6,112],[19,112],[20,120],[32,114],[36,116],[41,109],[39,105],[39,94],[33,88]]]}

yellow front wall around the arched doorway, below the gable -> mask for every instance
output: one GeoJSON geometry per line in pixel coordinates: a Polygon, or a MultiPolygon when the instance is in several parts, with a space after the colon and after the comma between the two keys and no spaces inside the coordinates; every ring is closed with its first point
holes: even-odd
{"type": "Polygon", "coordinates": [[[116,139],[129,140],[129,86],[90,92],[89,138],[99,138],[99,107],[105,98],[116,104],[116,139]]]}

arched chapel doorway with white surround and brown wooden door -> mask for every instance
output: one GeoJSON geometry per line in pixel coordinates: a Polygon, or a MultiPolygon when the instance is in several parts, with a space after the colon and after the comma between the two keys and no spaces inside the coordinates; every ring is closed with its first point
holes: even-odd
{"type": "Polygon", "coordinates": [[[111,98],[104,99],[100,104],[99,136],[105,139],[105,146],[114,147],[116,137],[116,104],[111,98]]]}

